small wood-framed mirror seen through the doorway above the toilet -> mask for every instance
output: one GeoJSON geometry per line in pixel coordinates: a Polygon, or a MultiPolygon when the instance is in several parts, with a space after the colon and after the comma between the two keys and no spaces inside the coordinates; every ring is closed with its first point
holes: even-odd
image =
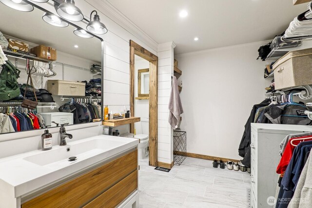
{"type": "Polygon", "coordinates": [[[137,70],[137,99],[149,99],[150,93],[150,70],[137,70]]]}

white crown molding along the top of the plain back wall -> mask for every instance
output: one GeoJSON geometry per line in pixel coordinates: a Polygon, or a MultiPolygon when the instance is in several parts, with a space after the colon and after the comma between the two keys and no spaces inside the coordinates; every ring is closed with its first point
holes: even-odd
{"type": "Polygon", "coordinates": [[[260,47],[262,44],[267,44],[271,41],[272,40],[264,40],[264,41],[258,41],[258,42],[244,43],[244,44],[239,44],[239,45],[225,46],[225,47],[220,47],[220,48],[212,48],[212,49],[207,49],[207,50],[202,50],[202,51],[194,51],[194,52],[188,52],[188,53],[183,53],[183,54],[177,54],[175,56],[176,57],[197,56],[197,55],[202,55],[202,54],[208,54],[214,51],[229,50],[232,48],[240,48],[240,47],[246,47],[246,46],[251,46],[251,45],[259,45],[260,47]]]}

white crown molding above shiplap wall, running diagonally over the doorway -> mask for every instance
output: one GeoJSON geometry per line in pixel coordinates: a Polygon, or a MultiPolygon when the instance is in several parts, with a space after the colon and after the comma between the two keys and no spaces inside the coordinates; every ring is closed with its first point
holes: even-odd
{"type": "Polygon", "coordinates": [[[122,28],[130,32],[132,35],[142,40],[145,44],[157,51],[158,43],[141,30],[133,21],[122,14],[113,4],[108,0],[90,0],[89,3],[100,10],[103,14],[109,16],[122,28]]]}

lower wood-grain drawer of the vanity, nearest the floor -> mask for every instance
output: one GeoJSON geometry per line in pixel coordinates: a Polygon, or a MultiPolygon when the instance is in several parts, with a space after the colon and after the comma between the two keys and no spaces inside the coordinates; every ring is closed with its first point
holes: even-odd
{"type": "Polygon", "coordinates": [[[83,208],[113,208],[137,189],[137,170],[83,208]]]}

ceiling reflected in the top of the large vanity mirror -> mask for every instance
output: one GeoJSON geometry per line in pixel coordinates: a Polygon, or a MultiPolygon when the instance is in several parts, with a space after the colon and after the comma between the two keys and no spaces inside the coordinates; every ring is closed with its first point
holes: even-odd
{"type": "Polygon", "coordinates": [[[0,32],[15,38],[56,48],[58,51],[101,62],[101,42],[98,38],[80,38],[74,27],[56,27],[42,20],[44,12],[34,9],[21,12],[0,3],[0,32]],[[74,45],[78,45],[75,48],[74,45]]]}

